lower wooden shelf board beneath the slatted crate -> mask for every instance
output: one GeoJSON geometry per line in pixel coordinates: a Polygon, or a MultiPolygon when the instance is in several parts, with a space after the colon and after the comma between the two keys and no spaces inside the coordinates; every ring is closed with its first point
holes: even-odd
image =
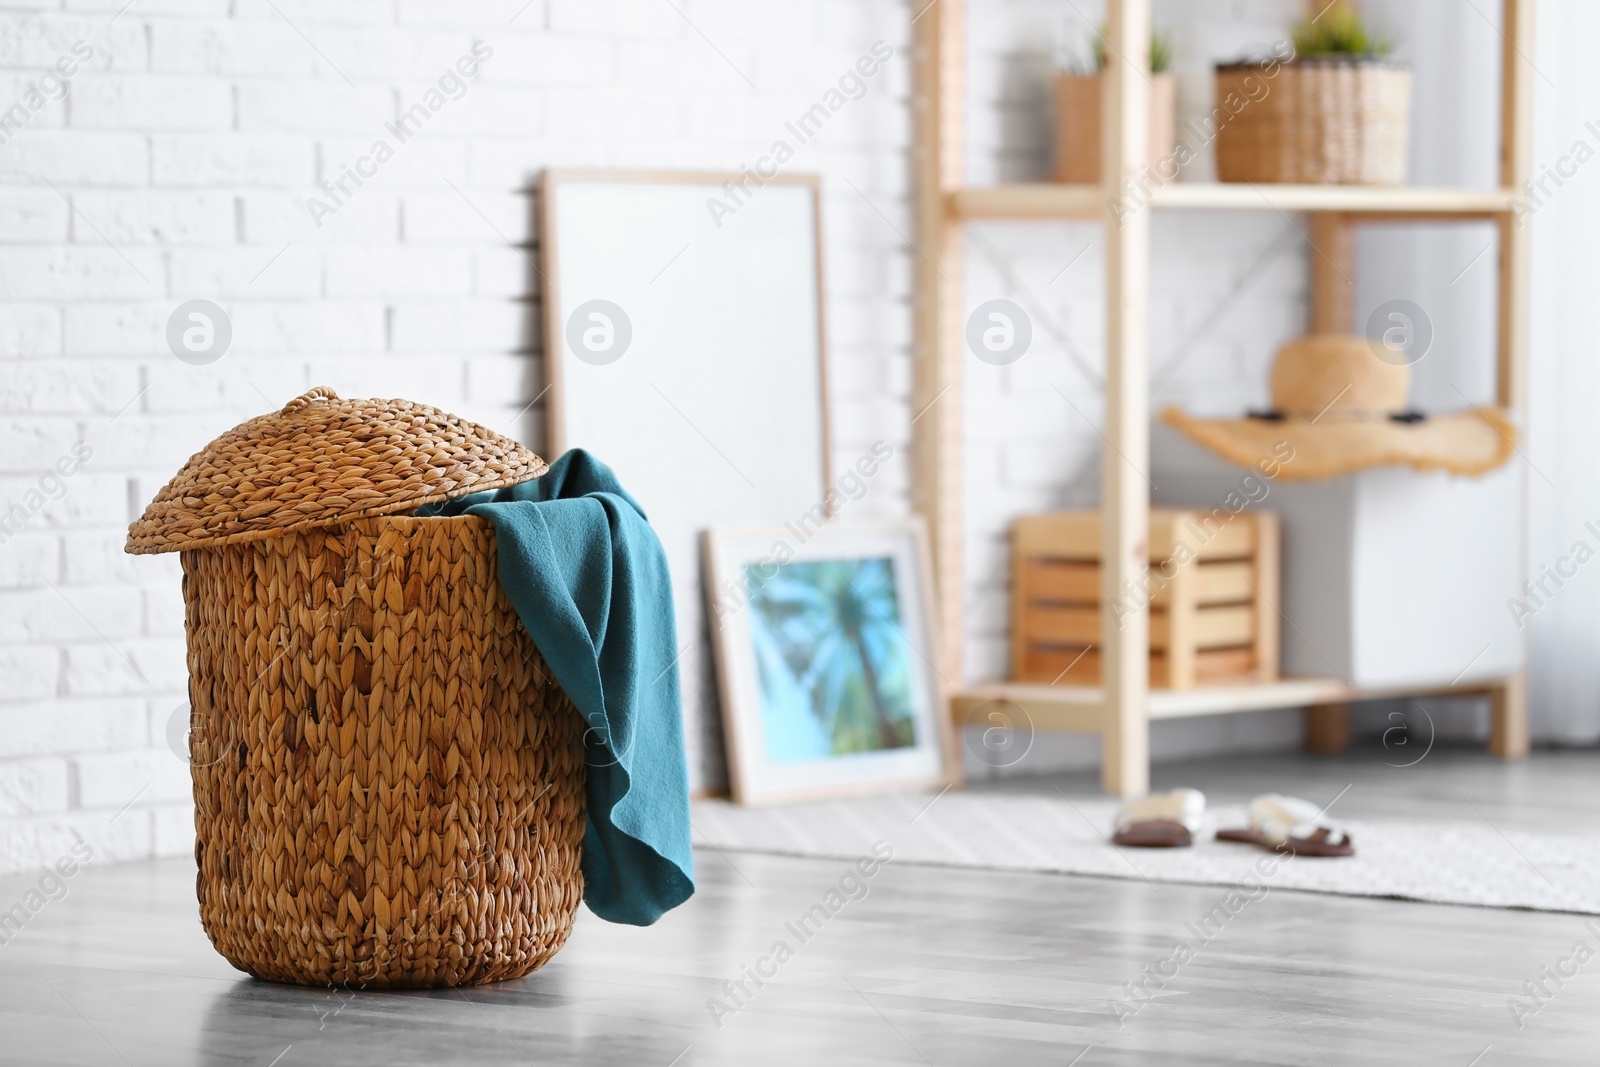
{"type": "MultiPolygon", "coordinates": [[[[1381,701],[1419,696],[1482,696],[1506,680],[1475,680],[1461,685],[1352,686],[1338,678],[1282,678],[1253,685],[1198,686],[1194,689],[1150,689],[1147,710],[1152,720],[1262,712],[1277,707],[1318,707],[1354,701],[1381,701]]],[[[1027,712],[1035,729],[1099,733],[1104,723],[1106,691],[1099,686],[990,681],[968,686],[950,697],[957,723],[984,725],[986,705],[1003,701],[1027,712]]]]}

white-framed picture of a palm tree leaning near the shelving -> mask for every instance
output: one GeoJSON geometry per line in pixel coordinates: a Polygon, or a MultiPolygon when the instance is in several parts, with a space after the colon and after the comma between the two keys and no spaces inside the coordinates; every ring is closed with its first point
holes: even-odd
{"type": "Polygon", "coordinates": [[[704,534],[736,803],[952,781],[920,520],[704,534]]]}

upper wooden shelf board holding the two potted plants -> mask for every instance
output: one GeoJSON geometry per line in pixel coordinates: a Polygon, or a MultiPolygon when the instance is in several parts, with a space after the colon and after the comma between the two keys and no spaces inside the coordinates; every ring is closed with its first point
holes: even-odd
{"type": "MultiPolygon", "coordinates": [[[[1334,211],[1376,218],[1494,219],[1512,213],[1512,190],[1413,189],[1384,186],[1243,186],[1173,182],[1154,192],[1160,210],[1178,211],[1334,211]]],[[[1034,182],[957,189],[947,210],[960,219],[1099,219],[1099,186],[1034,182]]]]}

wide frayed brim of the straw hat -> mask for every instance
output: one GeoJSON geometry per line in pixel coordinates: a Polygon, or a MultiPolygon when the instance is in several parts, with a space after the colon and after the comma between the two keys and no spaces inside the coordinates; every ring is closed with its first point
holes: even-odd
{"type": "Polygon", "coordinates": [[[1504,466],[1517,446],[1517,427],[1496,408],[1429,416],[1421,422],[1194,419],[1166,408],[1162,421],[1240,467],[1270,462],[1277,467],[1274,477],[1286,482],[1402,464],[1472,477],[1504,466]]]}

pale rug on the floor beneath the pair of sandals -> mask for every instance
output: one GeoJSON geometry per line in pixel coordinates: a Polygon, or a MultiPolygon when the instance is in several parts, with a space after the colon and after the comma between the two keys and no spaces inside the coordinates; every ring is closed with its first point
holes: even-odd
{"type": "Polygon", "coordinates": [[[1174,849],[1114,848],[1115,811],[1112,800],[950,790],[784,808],[702,800],[693,817],[694,843],[722,849],[854,859],[888,841],[896,864],[1222,886],[1251,875],[1272,889],[1600,915],[1600,838],[1501,833],[1483,821],[1352,821],[1354,857],[1291,859],[1262,877],[1254,864],[1270,867],[1270,853],[1214,840],[1219,825],[1246,825],[1243,808],[1208,811],[1195,845],[1174,849]]]}

